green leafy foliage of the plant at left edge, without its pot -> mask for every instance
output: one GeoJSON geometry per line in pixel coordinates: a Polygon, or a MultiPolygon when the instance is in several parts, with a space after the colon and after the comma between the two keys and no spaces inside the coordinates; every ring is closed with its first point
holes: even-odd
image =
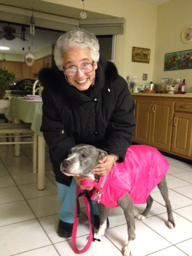
{"type": "Polygon", "coordinates": [[[15,81],[15,74],[0,68],[0,100],[5,99],[5,91],[9,90],[10,86],[15,81]]]}

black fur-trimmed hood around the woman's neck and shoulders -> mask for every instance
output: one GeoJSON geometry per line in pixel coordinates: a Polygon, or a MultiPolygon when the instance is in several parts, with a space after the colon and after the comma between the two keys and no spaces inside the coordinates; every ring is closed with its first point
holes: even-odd
{"type": "Polygon", "coordinates": [[[38,79],[41,85],[48,87],[52,91],[65,91],[70,98],[76,98],[83,101],[89,101],[103,89],[115,81],[118,76],[116,66],[111,61],[106,61],[100,54],[98,68],[95,70],[95,84],[90,87],[84,94],[75,87],[70,86],[65,75],[55,65],[50,68],[44,68],[39,72],[38,79]]]}

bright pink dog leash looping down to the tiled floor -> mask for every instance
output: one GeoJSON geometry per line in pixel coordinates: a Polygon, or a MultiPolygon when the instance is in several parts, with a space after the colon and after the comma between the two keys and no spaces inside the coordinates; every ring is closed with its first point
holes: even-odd
{"type": "MultiPolygon", "coordinates": [[[[98,190],[100,196],[103,194],[103,189],[94,180],[83,180],[83,179],[81,179],[81,185],[85,186],[85,187],[94,187],[95,189],[98,190]]],[[[93,237],[94,236],[93,209],[91,209],[91,214],[92,214],[92,218],[91,218],[90,208],[89,208],[89,201],[90,201],[90,204],[91,204],[90,205],[91,208],[93,208],[93,206],[92,206],[92,203],[91,203],[90,196],[88,194],[88,190],[81,190],[80,194],[79,194],[79,190],[80,190],[80,187],[79,187],[79,185],[77,185],[77,187],[76,187],[76,198],[77,198],[77,200],[76,200],[75,209],[74,209],[74,221],[73,221],[73,229],[72,229],[72,247],[73,247],[74,252],[84,253],[91,246],[91,242],[95,241],[96,239],[94,239],[94,237],[93,237]],[[88,239],[88,242],[87,242],[86,246],[80,251],[77,249],[77,246],[76,246],[76,235],[77,235],[77,227],[78,227],[78,223],[79,223],[79,214],[80,214],[79,205],[77,207],[77,204],[79,204],[79,202],[78,202],[78,197],[79,196],[83,197],[87,217],[88,217],[88,220],[89,220],[89,239],[88,239]]],[[[99,199],[100,199],[100,197],[99,197],[99,199]]]]}

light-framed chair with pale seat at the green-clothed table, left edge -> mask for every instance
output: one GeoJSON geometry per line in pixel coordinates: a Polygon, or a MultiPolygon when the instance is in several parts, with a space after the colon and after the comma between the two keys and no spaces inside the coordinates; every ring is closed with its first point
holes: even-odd
{"type": "Polygon", "coordinates": [[[0,138],[14,137],[13,141],[0,142],[0,145],[33,144],[33,172],[37,172],[37,134],[30,129],[31,123],[0,124],[0,138]],[[10,134],[10,135],[9,135],[10,134]],[[22,137],[31,137],[31,141],[21,141],[22,137]]]}

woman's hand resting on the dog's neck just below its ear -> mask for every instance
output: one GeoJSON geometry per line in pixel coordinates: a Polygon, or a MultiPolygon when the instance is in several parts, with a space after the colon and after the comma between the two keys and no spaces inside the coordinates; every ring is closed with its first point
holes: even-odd
{"type": "Polygon", "coordinates": [[[105,156],[102,160],[99,160],[99,164],[92,170],[93,174],[104,176],[114,166],[114,160],[111,155],[105,156]]]}

